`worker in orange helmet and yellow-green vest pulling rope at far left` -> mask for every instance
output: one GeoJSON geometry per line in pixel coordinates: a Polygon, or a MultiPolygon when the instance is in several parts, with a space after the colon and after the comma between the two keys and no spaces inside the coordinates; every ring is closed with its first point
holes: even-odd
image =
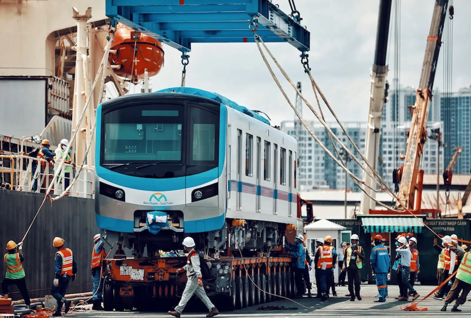
{"type": "Polygon", "coordinates": [[[5,278],[1,281],[2,293],[4,295],[8,294],[8,286],[16,285],[21,296],[23,296],[24,303],[29,306],[31,305],[31,301],[28,289],[26,288],[23,269],[23,242],[16,244],[14,241],[9,241],[7,243],[7,251],[8,253],[3,257],[7,273],[5,274],[5,278]]]}

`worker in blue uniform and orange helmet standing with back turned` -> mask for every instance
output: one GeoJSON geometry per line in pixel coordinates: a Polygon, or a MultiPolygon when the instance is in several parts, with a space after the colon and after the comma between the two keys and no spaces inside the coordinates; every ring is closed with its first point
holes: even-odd
{"type": "Polygon", "coordinates": [[[376,286],[378,286],[378,299],[374,302],[385,302],[388,295],[388,272],[391,267],[391,259],[388,249],[382,244],[382,236],[377,234],[374,237],[374,248],[371,251],[370,264],[376,276],[376,286]]]}

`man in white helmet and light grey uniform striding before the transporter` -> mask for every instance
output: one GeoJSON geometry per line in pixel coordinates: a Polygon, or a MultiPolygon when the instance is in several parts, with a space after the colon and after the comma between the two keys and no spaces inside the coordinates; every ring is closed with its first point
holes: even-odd
{"type": "Polygon", "coordinates": [[[219,311],[216,309],[204,291],[203,276],[201,275],[200,268],[200,257],[195,250],[195,245],[195,240],[193,238],[187,236],[183,239],[183,247],[188,253],[188,260],[187,265],[177,269],[177,273],[181,272],[182,270],[187,271],[187,285],[185,286],[185,290],[183,291],[180,302],[177,307],[175,307],[175,310],[168,312],[170,315],[177,318],[180,318],[183,309],[185,309],[187,302],[194,293],[196,296],[198,296],[199,299],[201,299],[201,301],[203,301],[204,305],[210,311],[206,317],[214,317],[219,314],[219,311]]]}

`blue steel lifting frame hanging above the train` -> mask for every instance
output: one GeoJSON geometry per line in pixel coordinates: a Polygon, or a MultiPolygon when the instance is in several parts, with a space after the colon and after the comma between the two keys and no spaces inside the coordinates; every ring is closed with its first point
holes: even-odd
{"type": "Polygon", "coordinates": [[[288,42],[309,50],[309,31],[270,0],[106,0],[106,15],[182,52],[191,43],[288,42]]]}

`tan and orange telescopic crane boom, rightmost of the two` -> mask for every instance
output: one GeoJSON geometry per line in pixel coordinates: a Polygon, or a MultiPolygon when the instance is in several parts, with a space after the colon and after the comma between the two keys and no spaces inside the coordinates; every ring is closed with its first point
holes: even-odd
{"type": "MultiPolygon", "coordinates": [[[[415,190],[418,189],[417,176],[419,174],[420,160],[422,159],[423,144],[427,137],[427,121],[429,115],[428,102],[432,98],[433,81],[439,59],[443,25],[447,17],[448,0],[435,0],[432,23],[430,25],[427,46],[422,65],[417,97],[415,99],[414,113],[411,128],[407,138],[407,151],[404,166],[401,172],[398,202],[396,208],[404,205],[407,209],[414,209],[415,190]]],[[[439,154],[437,154],[439,155],[439,154]]]]}

